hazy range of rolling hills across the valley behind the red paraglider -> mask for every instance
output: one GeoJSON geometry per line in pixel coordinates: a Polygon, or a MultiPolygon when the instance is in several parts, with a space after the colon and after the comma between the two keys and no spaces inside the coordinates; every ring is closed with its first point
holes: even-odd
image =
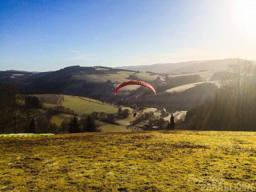
{"type": "MultiPolygon", "coordinates": [[[[204,99],[204,97],[201,97],[202,94],[200,92],[196,92],[197,88],[195,88],[193,93],[193,95],[197,95],[197,98],[199,98],[199,100],[197,99],[197,102],[190,102],[190,104],[185,105],[184,103],[187,103],[187,101],[185,102],[185,98],[189,98],[189,96],[184,96],[181,97],[181,100],[176,100],[175,102],[169,102],[169,99],[167,99],[165,100],[165,103],[169,102],[168,106],[166,106],[166,104],[162,106],[162,100],[165,97],[174,97],[174,95],[168,95],[171,94],[172,91],[184,91],[195,86],[195,83],[212,82],[218,85],[218,81],[223,74],[216,74],[221,72],[219,69],[222,71],[225,68],[227,69],[227,65],[230,63],[232,63],[232,59],[189,61],[176,64],[155,64],[144,67],[135,66],[134,68],[123,67],[124,69],[71,66],[58,71],[48,71],[37,74],[18,71],[0,71],[0,81],[8,83],[12,82],[27,94],[72,95],[112,103],[119,102],[124,105],[132,105],[137,104],[137,102],[147,101],[146,103],[148,107],[165,107],[168,109],[176,107],[179,110],[187,111],[204,99]],[[152,72],[139,72],[142,67],[146,71],[152,72]],[[156,71],[154,71],[163,71],[162,69],[165,69],[166,73],[175,75],[166,76],[163,73],[156,73],[156,71]],[[212,69],[216,70],[213,71],[212,69]],[[203,72],[198,72],[199,70],[203,72]],[[197,72],[189,73],[189,71],[197,72]],[[147,88],[134,85],[120,89],[114,97],[113,92],[115,88],[127,80],[142,80],[150,83],[156,90],[156,96],[152,97],[153,95],[151,92],[148,92],[147,88]],[[166,91],[169,91],[170,93],[167,93],[166,91]],[[137,99],[131,99],[132,97],[136,97],[137,99]],[[155,106],[148,105],[150,103],[152,104],[151,101],[153,101],[155,106]]],[[[208,94],[204,91],[205,93],[203,95],[205,97],[210,96],[214,90],[215,88],[212,87],[212,91],[208,90],[208,94]]]]}

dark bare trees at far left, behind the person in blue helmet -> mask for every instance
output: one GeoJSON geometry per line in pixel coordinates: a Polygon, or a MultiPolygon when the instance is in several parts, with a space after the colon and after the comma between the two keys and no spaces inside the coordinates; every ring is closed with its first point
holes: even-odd
{"type": "Polygon", "coordinates": [[[40,111],[41,103],[35,96],[19,94],[20,91],[12,84],[0,83],[0,133],[28,133],[28,126],[33,118],[40,121],[37,129],[47,133],[56,128],[50,123],[49,116],[40,111]]]}

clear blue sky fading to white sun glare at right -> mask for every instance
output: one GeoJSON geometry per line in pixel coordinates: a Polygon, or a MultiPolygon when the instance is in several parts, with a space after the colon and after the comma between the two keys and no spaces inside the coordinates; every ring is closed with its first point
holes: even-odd
{"type": "Polygon", "coordinates": [[[256,59],[255,0],[1,1],[0,70],[256,59]]]}

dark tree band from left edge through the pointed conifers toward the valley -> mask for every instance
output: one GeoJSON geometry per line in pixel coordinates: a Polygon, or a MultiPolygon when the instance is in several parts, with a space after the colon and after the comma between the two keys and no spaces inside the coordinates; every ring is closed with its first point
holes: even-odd
{"type": "Polygon", "coordinates": [[[92,112],[78,117],[74,110],[63,106],[50,107],[48,110],[39,110],[42,103],[36,96],[20,94],[12,84],[0,83],[0,134],[29,133],[28,126],[36,118],[36,133],[83,133],[99,131],[101,120],[115,124],[115,118],[125,118],[129,115],[128,109],[118,108],[118,113],[92,112]],[[57,113],[72,114],[73,118],[65,119],[58,127],[50,119],[57,113]]]}

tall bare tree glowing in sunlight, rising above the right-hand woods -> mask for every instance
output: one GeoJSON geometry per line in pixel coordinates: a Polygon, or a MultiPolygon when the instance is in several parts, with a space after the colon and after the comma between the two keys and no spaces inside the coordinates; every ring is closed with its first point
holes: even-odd
{"type": "Polygon", "coordinates": [[[253,62],[236,58],[229,65],[229,75],[221,81],[225,91],[229,93],[236,106],[237,129],[241,130],[245,124],[246,109],[248,105],[248,87],[250,74],[253,70],[253,62]]]}

